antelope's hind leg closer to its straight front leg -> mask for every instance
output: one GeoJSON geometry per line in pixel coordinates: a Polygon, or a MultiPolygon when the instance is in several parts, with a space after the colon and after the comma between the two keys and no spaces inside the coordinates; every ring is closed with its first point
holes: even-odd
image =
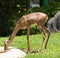
{"type": "Polygon", "coordinates": [[[38,27],[39,27],[39,31],[40,31],[41,34],[42,34],[42,41],[41,41],[38,49],[37,49],[36,51],[35,51],[35,50],[32,51],[33,53],[40,52],[40,51],[42,50],[42,46],[43,46],[44,40],[45,40],[45,38],[46,38],[46,34],[45,34],[45,32],[44,32],[43,27],[42,27],[42,26],[38,26],[38,27]]]}

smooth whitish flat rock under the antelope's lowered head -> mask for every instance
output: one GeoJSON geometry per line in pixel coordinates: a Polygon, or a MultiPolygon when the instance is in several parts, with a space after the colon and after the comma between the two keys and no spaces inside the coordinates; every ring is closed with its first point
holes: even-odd
{"type": "MultiPolygon", "coordinates": [[[[0,47],[0,50],[3,50],[4,47],[0,47]]],[[[9,50],[5,53],[0,53],[0,58],[24,58],[26,53],[20,49],[9,47],[9,50]]]]}

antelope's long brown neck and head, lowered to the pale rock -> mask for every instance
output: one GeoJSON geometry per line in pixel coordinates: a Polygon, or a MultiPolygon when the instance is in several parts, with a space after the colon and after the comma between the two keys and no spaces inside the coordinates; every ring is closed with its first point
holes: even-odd
{"type": "Polygon", "coordinates": [[[12,34],[11,34],[11,36],[5,42],[5,47],[4,47],[5,50],[8,48],[8,46],[10,45],[10,43],[13,41],[13,38],[16,35],[16,33],[19,31],[19,29],[20,29],[19,28],[19,24],[17,23],[16,26],[15,26],[15,28],[14,28],[14,30],[13,30],[13,32],[12,32],[12,34]]]}

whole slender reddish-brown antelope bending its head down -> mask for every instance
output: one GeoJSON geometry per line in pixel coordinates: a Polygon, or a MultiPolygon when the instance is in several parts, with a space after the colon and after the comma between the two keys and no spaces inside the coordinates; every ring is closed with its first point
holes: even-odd
{"type": "Polygon", "coordinates": [[[37,26],[39,27],[39,31],[42,33],[42,41],[41,44],[38,48],[38,51],[41,50],[42,45],[44,43],[45,37],[46,37],[46,33],[45,30],[48,33],[48,37],[45,43],[45,48],[47,47],[47,43],[50,37],[50,32],[49,30],[44,27],[44,24],[46,23],[46,21],[48,20],[48,16],[44,13],[41,12],[35,12],[35,13],[30,13],[28,15],[24,15],[22,16],[16,23],[16,26],[11,34],[11,36],[9,37],[9,39],[7,41],[5,41],[5,47],[4,50],[8,49],[8,46],[10,45],[10,43],[13,41],[14,36],[16,35],[16,33],[20,30],[20,29],[26,29],[27,28],[27,51],[30,52],[30,44],[29,44],[29,34],[30,34],[30,26],[32,24],[37,24],[37,26]]]}

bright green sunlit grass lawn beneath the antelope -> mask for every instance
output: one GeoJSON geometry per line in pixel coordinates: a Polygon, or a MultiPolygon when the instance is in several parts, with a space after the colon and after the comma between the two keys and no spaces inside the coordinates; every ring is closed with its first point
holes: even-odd
{"type": "MultiPolygon", "coordinates": [[[[0,46],[4,45],[4,41],[9,37],[0,37],[0,46]]],[[[40,41],[42,39],[41,34],[31,35],[30,36],[30,47],[32,50],[38,48],[40,41]]],[[[11,46],[22,49],[24,51],[27,50],[27,40],[26,36],[16,36],[11,43],[11,46]]],[[[42,51],[40,53],[29,53],[25,58],[60,58],[60,33],[53,33],[50,36],[47,49],[44,49],[44,45],[42,47],[42,51]]]]}

